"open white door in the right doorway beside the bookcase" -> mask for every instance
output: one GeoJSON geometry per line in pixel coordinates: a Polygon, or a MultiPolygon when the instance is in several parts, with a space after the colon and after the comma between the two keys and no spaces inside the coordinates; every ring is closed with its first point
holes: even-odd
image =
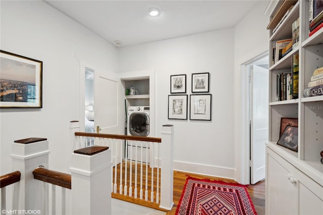
{"type": "Polygon", "coordinates": [[[268,141],[268,70],[252,65],[250,74],[251,184],[265,178],[265,142],[268,141]]]}

